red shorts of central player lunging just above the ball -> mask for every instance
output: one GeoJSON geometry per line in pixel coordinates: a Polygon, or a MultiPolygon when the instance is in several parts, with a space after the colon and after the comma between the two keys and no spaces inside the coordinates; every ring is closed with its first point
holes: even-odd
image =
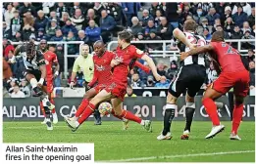
{"type": "Polygon", "coordinates": [[[127,94],[127,85],[126,84],[117,84],[115,82],[108,85],[105,90],[108,93],[116,96],[117,98],[121,99],[123,102],[125,100],[125,96],[127,94]]]}

